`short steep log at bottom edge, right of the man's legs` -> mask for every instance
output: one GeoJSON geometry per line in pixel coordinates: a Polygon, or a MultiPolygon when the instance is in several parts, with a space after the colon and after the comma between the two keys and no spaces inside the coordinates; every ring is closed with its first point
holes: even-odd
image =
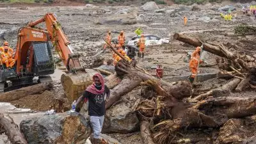
{"type": "Polygon", "coordinates": [[[149,129],[149,122],[147,120],[143,120],[142,122],[140,122],[140,135],[143,139],[144,144],[154,144],[149,129]]]}

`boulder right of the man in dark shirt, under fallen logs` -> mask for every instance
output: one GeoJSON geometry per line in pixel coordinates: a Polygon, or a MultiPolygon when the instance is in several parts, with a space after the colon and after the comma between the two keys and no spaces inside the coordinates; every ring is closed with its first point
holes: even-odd
{"type": "Polygon", "coordinates": [[[121,102],[106,111],[102,133],[130,133],[138,130],[139,119],[129,102],[121,102]]]}

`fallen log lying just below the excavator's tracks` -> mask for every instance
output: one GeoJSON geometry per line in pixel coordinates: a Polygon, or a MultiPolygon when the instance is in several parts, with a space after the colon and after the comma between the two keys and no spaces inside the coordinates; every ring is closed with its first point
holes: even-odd
{"type": "Polygon", "coordinates": [[[51,90],[51,89],[52,89],[52,83],[35,84],[33,86],[20,88],[18,90],[12,90],[10,92],[1,93],[0,102],[11,102],[13,100],[21,99],[22,97],[26,97],[28,95],[42,93],[45,90],[51,90]]]}

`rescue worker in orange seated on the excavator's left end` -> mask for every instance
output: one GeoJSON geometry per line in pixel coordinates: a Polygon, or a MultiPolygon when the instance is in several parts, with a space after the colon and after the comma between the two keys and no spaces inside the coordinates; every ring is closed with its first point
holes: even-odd
{"type": "Polygon", "coordinates": [[[8,69],[15,64],[15,60],[12,58],[13,51],[10,51],[10,49],[10,47],[4,46],[4,51],[1,54],[1,59],[8,69]]]}

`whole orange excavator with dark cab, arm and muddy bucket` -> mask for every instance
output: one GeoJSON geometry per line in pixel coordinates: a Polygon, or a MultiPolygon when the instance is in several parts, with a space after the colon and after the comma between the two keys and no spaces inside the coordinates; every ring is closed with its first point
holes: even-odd
{"type": "MultiPolygon", "coordinates": [[[[28,22],[18,31],[14,68],[0,70],[0,91],[49,81],[49,74],[54,73],[52,49],[58,52],[67,74],[61,76],[61,84],[69,100],[77,99],[86,86],[92,84],[96,72],[84,69],[79,62],[79,54],[72,51],[67,36],[53,13],[47,13],[42,19],[28,22]],[[38,24],[45,23],[45,28],[38,24]],[[6,83],[11,81],[11,84],[6,83]]],[[[51,81],[51,79],[50,79],[51,81]]]]}

